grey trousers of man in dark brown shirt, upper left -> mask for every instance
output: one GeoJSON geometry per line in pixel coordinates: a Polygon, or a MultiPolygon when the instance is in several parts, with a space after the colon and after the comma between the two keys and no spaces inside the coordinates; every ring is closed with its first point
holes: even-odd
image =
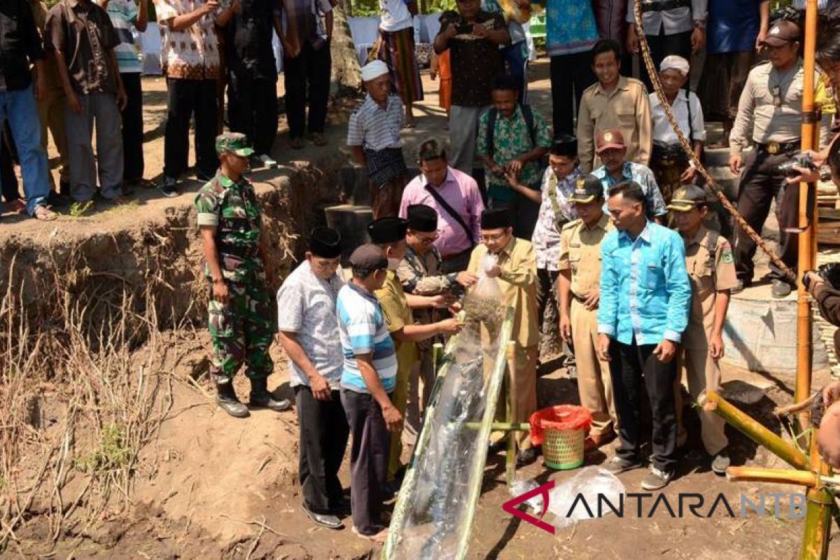
{"type": "Polygon", "coordinates": [[[87,202],[97,191],[97,165],[102,198],[123,194],[123,118],[113,93],[80,95],[81,113],[65,107],[67,154],[70,166],[70,193],[78,202],[87,202]],[[97,131],[97,155],[93,157],[93,127],[97,131]]]}

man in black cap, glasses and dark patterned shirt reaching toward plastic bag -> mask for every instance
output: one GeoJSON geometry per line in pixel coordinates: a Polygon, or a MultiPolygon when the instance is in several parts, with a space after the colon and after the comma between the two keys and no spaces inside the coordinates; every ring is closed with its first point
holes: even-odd
{"type": "MultiPolygon", "coordinates": [[[[413,296],[428,298],[428,306],[412,309],[414,322],[429,325],[449,316],[446,308],[453,304],[457,296],[464,293],[465,286],[475,284],[477,277],[470,272],[444,274],[441,270],[442,259],[438,248],[434,246],[438,239],[438,212],[426,204],[410,204],[406,210],[408,229],[406,232],[406,255],[396,269],[396,276],[402,284],[402,290],[413,296]]],[[[443,337],[428,338],[417,343],[420,361],[408,379],[408,404],[404,438],[413,443],[420,432],[420,419],[434,385],[434,366],[432,346],[443,343],[443,337]],[[417,370],[416,368],[419,368],[417,370]],[[423,381],[421,398],[420,381],[423,381]]]]}

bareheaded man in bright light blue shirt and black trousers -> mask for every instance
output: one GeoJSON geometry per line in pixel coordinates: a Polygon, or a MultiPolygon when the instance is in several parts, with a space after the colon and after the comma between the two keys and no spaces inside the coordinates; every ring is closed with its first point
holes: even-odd
{"type": "Polygon", "coordinates": [[[642,488],[661,489],[676,469],[674,356],[688,326],[691,285],[680,235],[650,222],[637,183],[608,192],[617,231],[601,244],[598,358],[610,362],[621,446],[606,466],[618,474],[642,466],[639,396],[648,391],[653,416],[653,460],[642,488]]]}

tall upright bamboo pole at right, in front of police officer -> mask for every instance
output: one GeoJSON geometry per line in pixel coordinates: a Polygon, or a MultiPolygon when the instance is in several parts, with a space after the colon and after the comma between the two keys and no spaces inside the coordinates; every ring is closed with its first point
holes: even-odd
{"type": "MultiPolygon", "coordinates": [[[[808,0],[805,18],[805,60],[802,78],[802,150],[814,149],[814,135],[818,122],[814,105],[814,88],[816,82],[814,73],[816,64],[814,50],[816,49],[816,0],[808,0]]],[[[799,191],[799,257],[797,261],[796,283],[796,387],[794,401],[806,400],[811,394],[811,357],[813,355],[813,340],[811,331],[811,300],[802,275],[814,268],[814,254],[811,239],[814,237],[813,224],[808,216],[816,215],[815,209],[809,208],[809,191],[816,186],[801,183],[799,191]]],[[[816,203],[816,196],[813,197],[816,203]]],[[[799,413],[800,428],[811,423],[811,411],[806,409],[799,413]]]]}

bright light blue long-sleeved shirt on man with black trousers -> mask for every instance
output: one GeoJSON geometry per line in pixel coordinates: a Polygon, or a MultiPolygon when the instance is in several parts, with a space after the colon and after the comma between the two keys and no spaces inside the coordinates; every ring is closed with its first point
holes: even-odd
{"type": "Polygon", "coordinates": [[[622,344],[680,343],[688,326],[691,284],[680,234],[648,222],[634,241],[612,231],[601,243],[598,332],[622,344]]]}

